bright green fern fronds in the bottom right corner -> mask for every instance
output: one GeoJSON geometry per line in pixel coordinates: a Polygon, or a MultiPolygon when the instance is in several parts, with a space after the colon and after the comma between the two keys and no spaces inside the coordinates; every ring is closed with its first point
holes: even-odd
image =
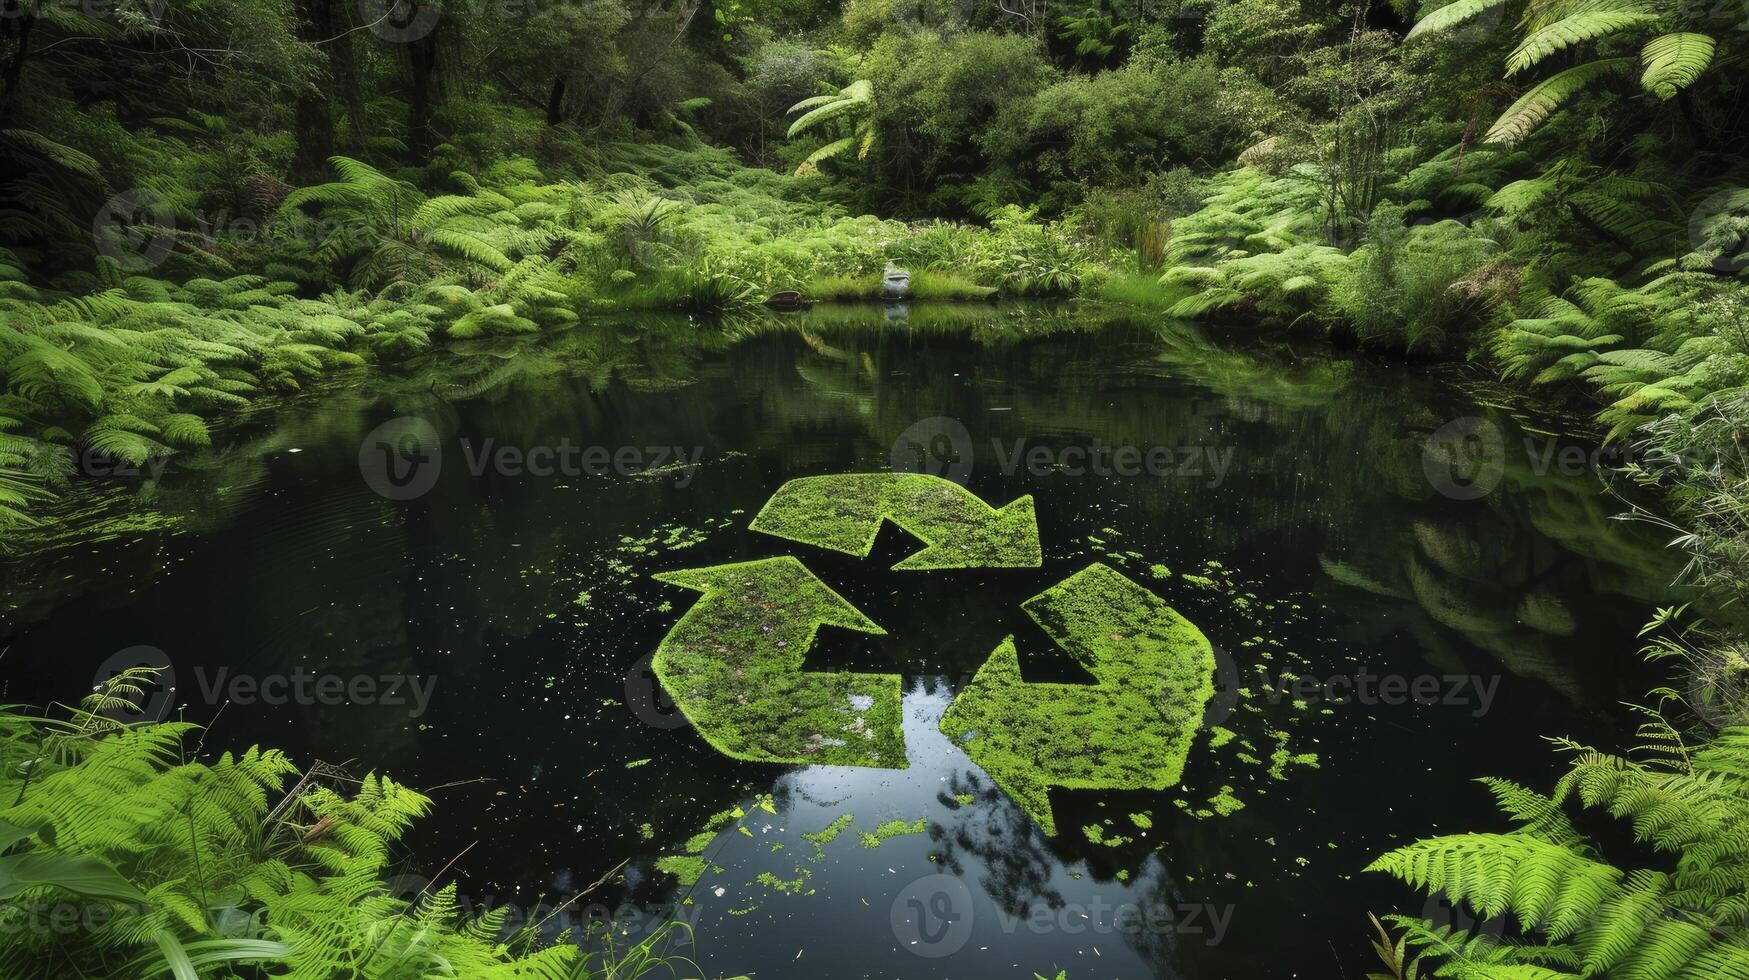
{"type": "Polygon", "coordinates": [[[1698,751],[1653,712],[1649,761],[1562,742],[1572,765],[1550,796],[1485,780],[1513,833],[1467,833],[1399,847],[1368,870],[1445,892],[1485,919],[1511,915],[1522,943],[1459,940],[1394,917],[1403,942],[1448,976],[1749,976],[1749,728],[1698,751]],[[1600,808],[1674,854],[1674,870],[1621,870],[1581,836],[1565,807],[1600,808]],[[1539,973],[1541,971],[1541,973],[1539,973]]]}

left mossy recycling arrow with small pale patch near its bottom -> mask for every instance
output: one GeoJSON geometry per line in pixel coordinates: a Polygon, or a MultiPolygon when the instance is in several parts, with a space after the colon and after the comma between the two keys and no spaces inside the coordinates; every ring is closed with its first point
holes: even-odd
{"type": "Polygon", "coordinates": [[[815,674],[820,626],[885,634],[796,558],[663,572],[703,592],[651,667],[700,735],[763,763],[904,768],[897,674],[815,674]]]}

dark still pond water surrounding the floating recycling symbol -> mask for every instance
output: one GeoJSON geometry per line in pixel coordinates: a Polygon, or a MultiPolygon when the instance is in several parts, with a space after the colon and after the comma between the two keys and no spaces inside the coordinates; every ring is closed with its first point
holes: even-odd
{"type": "Polygon", "coordinates": [[[1086,312],[449,348],[240,424],[140,490],[163,527],[14,562],[5,696],[72,700],[156,648],[154,707],[213,723],[208,749],[429,789],[409,880],[460,854],[442,880],[476,908],[551,906],[626,861],[549,929],[680,919],[707,975],[1359,976],[1366,912],[1420,908],[1361,870],[1504,828],[1474,777],[1546,784],[1541,735],[1614,744],[1649,682],[1634,630],[1674,569],[1544,427],[1086,312]],[[895,464],[1034,495],[1044,565],[897,572],[918,544],[892,527],[869,558],[747,528],[791,478],[895,464]],[[696,593],[649,576],[771,555],[885,626],[824,630],[808,667],[906,677],[908,768],[740,763],[654,684],[696,593]],[[1020,604],[1095,562],[1207,634],[1221,693],[1179,786],[1056,791],[1046,836],[937,721],[1006,635],[1027,681],[1093,682],[1020,604]]]}

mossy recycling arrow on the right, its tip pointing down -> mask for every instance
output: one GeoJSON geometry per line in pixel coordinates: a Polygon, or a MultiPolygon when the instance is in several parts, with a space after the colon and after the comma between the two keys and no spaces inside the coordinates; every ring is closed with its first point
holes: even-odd
{"type": "Polygon", "coordinates": [[[1105,565],[1021,607],[1097,684],[1028,684],[1007,637],[948,705],[941,732],[1048,835],[1056,833],[1051,786],[1174,786],[1214,693],[1214,648],[1202,630],[1105,565]]]}

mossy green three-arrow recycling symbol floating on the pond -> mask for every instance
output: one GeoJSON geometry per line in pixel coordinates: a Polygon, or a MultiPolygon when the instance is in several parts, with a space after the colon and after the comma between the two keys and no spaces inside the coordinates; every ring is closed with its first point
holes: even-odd
{"type": "MultiPolygon", "coordinates": [[[[1041,567],[1032,497],[992,508],[916,472],[791,480],[752,530],[868,556],[881,522],[923,542],[899,570],[1041,567]]],[[[654,576],[701,592],[651,667],[717,751],[747,761],[904,768],[897,674],[810,672],[820,626],[885,634],[792,556],[654,576]],[[775,710],[773,710],[775,707],[775,710]]],[[[1165,789],[1179,780],[1214,649],[1158,595],[1088,565],[1021,604],[1093,684],[1028,682],[1004,639],[948,705],[941,732],[1048,835],[1048,791],[1165,789]]]]}

